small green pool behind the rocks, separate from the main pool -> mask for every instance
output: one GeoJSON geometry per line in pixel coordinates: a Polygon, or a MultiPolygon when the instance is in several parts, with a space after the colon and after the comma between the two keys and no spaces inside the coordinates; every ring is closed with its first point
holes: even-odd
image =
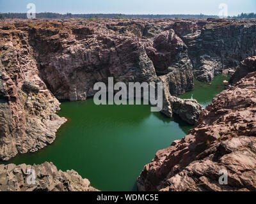
{"type": "Polygon", "coordinates": [[[209,105],[217,94],[225,89],[223,80],[229,80],[230,76],[218,75],[214,77],[212,82],[204,83],[195,80],[195,90],[191,92],[186,92],[179,96],[179,98],[190,99],[194,98],[198,103],[202,104],[204,107],[209,105]]]}

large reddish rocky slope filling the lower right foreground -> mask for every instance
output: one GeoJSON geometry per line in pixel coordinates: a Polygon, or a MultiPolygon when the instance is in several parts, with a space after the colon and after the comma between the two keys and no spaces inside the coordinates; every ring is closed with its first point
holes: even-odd
{"type": "Polygon", "coordinates": [[[159,150],[138,178],[140,191],[256,190],[256,72],[218,94],[195,128],[159,150]],[[221,173],[222,172],[222,173],[221,173]],[[223,172],[228,183],[219,183],[223,172]]]}

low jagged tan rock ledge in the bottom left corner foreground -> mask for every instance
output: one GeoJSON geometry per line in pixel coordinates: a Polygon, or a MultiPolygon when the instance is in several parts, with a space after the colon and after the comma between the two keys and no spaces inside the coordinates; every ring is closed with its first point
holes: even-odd
{"type": "Polygon", "coordinates": [[[0,191],[97,191],[74,170],[63,172],[52,163],[0,164],[0,191]]]}

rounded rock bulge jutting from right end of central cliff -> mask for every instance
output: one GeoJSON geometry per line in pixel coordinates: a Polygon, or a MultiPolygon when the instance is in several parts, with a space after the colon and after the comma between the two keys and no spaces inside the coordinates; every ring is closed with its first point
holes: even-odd
{"type": "Polygon", "coordinates": [[[157,76],[166,76],[170,84],[170,94],[177,96],[194,89],[188,48],[173,29],[164,31],[152,41],[148,41],[146,52],[154,64],[157,76]]]}

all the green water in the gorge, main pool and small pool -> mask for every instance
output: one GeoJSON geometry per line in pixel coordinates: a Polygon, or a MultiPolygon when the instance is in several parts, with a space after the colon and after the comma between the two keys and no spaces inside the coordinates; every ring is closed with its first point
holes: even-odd
{"type": "MultiPolygon", "coordinates": [[[[224,89],[220,76],[211,85],[195,82],[195,91],[180,96],[207,105],[224,89]]],[[[19,154],[8,161],[41,164],[51,161],[58,169],[76,170],[101,191],[136,191],[136,179],[157,150],[187,135],[192,126],[177,117],[150,112],[149,105],[100,105],[93,99],[63,102],[56,140],[36,153],[19,154]]]]}

